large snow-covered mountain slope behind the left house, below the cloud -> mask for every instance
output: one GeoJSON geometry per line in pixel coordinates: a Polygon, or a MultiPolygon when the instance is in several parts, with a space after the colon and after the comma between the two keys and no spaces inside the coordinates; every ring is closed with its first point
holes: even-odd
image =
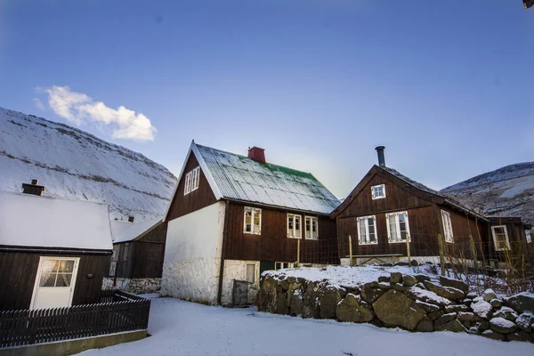
{"type": "Polygon", "coordinates": [[[38,179],[44,196],[105,202],[111,218],[165,214],[176,177],[165,166],[69,125],[0,108],[0,190],[38,179]]]}

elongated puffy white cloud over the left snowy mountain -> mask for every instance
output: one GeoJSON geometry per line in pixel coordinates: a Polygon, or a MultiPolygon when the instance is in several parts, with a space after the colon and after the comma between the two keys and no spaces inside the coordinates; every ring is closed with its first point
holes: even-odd
{"type": "Polygon", "coordinates": [[[117,139],[130,139],[134,141],[153,141],[156,127],[150,119],[134,110],[124,106],[118,109],[107,107],[101,101],[85,95],[85,93],[72,92],[69,86],[56,86],[45,89],[48,93],[48,104],[60,117],[69,122],[81,125],[86,121],[99,122],[105,125],[117,125],[111,135],[117,139]]]}

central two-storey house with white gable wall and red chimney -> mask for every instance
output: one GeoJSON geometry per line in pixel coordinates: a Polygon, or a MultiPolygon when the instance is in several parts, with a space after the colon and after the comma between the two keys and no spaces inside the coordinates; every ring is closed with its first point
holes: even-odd
{"type": "Polygon", "coordinates": [[[165,217],[161,294],[231,304],[245,282],[250,302],[265,270],[337,263],[338,205],[312,174],[267,163],[263,149],[245,157],[192,142],[165,217]]]}

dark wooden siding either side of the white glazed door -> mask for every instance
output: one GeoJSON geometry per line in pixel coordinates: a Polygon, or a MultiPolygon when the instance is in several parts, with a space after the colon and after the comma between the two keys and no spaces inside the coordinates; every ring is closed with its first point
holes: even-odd
{"type": "Polygon", "coordinates": [[[0,252],[0,310],[30,307],[40,256],[79,257],[72,304],[99,303],[109,255],[0,252]],[[93,274],[93,278],[88,279],[87,274],[93,274]]]}

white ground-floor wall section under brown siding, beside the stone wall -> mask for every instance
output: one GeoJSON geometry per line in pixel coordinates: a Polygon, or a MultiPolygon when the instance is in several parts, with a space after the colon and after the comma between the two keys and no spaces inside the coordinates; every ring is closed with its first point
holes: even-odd
{"type": "Polygon", "coordinates": [[[260,287],[260,262],[224,260],[223,294],[221,303],[231,305],[234,279],[247,279],[247,263],[255,263],[255,283],[248,287],[248,303],[254,303],[255,294],[260,287]]]}

